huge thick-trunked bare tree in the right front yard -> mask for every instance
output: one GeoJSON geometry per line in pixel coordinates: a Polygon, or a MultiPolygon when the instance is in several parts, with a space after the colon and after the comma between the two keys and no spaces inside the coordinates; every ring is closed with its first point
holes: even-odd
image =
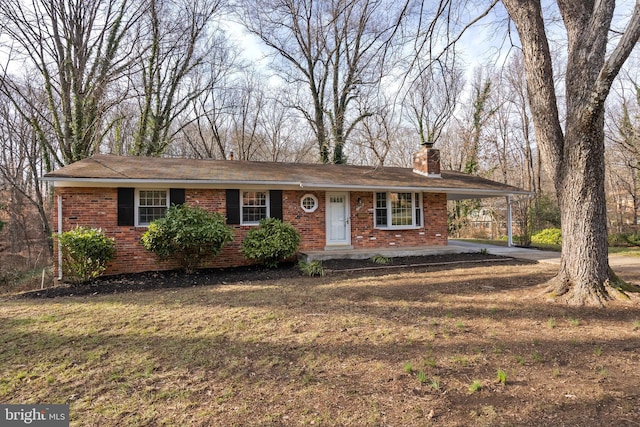
{"type": "Polygon", "coordinates": [[[524,54],[529,105],[544,165],[562,214],[560,270],[550,292],[571,304],[603,304],[618,285],[608,262],[604,107],[611,84],[640,37],[640,2],[609,53],[614,0],[558,0],[567,32],[566,119],[539,0],[502,0],[524,54]]]}

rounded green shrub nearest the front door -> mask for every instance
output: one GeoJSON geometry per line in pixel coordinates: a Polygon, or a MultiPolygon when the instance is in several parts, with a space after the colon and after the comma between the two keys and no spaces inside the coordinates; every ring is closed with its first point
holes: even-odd
{"type": "Polygon", "coordinates": [[[265,218],[242,241],[245,258],[275,268],[278,262],[293,256],[300,244],[300,233],[289,223],[265,218]]]}

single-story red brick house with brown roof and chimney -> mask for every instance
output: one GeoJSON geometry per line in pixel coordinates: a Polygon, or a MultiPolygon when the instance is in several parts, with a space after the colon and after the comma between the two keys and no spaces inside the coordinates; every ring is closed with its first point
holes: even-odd
{"type": "Polygon", "coordinates": [[[301,252],[445,246],[447,200],[528,194],[440,171],[434,149],[417,152],[413,166],[95,155],[43,179],[54,183],[58,232],[91,226],[115,238],[116,256],[106,274],[177,268],[140,244],[149,223],[171,204],[200,206],[226,218],[235,240],[206,266],[228,267],[248,263],[242,239],[265,217],[291,223],[302,236],[301,252]]]}

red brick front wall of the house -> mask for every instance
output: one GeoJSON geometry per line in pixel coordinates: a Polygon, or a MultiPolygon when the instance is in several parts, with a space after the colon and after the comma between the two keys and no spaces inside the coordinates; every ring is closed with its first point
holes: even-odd
{"type": "MultiPolygon", "coordinates": [[[[64,231],[76,226],[101,228],[109,237],[116,239],[116,256],[109,264],[106,274],[170,270],[178,267],[176,261],[160,261],[140,244],[146,227],[119,227],[117,225],[116,188],[56,188],[62,196],[62,218],[64,231]]],[[[226,215],[225,190],[186,189],[186,203],[226,215]]],[[[283,191],[283,218],[293,224],[302,236],[300,251],[322,250],[326,245],[326,210],[324,191],[283,191]],[[313,194],[318,199],[318,208],[311,213],[300,206],[302,197],[313,194]]],[[[57,197],[56,197],[57,204],[57,197]]],[[[373,226],[373,193],[351,192],[351,242],[354,248],[408,247],[423,245],[446,245],[447,201],[445,194],[425,194],[425,227],[414,230],[382,230],[373,226]],[[362,206],[358,208],[357,200],[362,206]]],[[[57,212],[57,206],[56,210],[57,212]]],[[[227,244],[207,267],[246,265],[240,245],[251,226],[234,226],[235,240],[227,244]]],[[[56,219],[57,231],[57,219],[56,219]]],[[[57,245],[55,246],[57,251],[57,245]]],[[[57,260],[57,255],[56,258],[57,260]]]]}

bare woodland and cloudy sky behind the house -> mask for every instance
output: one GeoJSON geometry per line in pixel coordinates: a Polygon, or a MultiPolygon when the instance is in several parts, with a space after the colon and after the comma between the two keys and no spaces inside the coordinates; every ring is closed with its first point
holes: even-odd
{"type": "MultiPolygon", "coordinates": [[[[420,144],[440,148],[445,169],[532,191],[516,204],[526,242],[559,225],[559,214],[510,25],[497,0],[5,0],[7,244],[20,252],[51,235],[50,189],[39,177],[97,152],[409,166],[420,144]],[[464,44],[474,29],[502,47],[478,61],[464,44]]],[[[554,61],[566,63],[565,37],[550,40],[554,61]]],[[[615,229],[637,223],[635,64],[632,56],[612,86],[606,115],[615,229]]],[[[452,231],[464,233],[477,208],[452,204],[452,231]]],[[[500,206],[485,211],[500,219],[500,206]]]]}

